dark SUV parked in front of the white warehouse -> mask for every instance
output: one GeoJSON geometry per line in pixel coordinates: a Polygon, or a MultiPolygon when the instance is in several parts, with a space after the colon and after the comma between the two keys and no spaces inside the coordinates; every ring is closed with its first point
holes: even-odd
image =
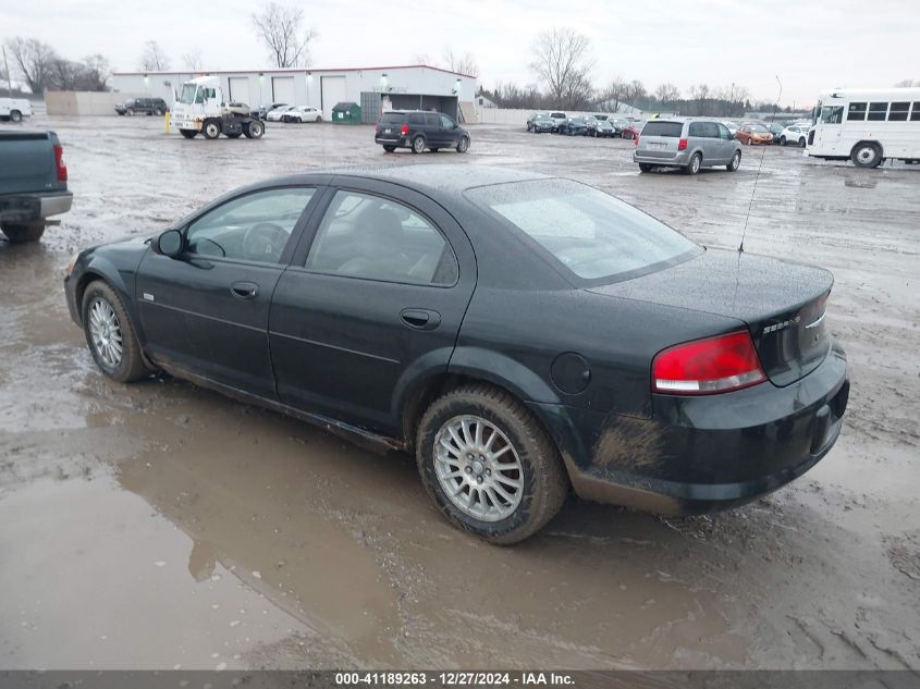
{"type": "Polygon", "coordinates": [[[469,148],[469,132],[440,112],[421,110],[391,110],[380,115],[373,142],[392,153],[397,148],[410,148],[420,153],[426,148],[456,148],[465,153],[469,148]]]}

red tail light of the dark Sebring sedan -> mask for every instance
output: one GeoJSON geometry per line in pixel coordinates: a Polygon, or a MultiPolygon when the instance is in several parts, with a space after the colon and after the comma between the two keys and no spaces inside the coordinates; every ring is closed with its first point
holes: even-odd
{"type": "Polygon", "coordinates": [[[668,347],[652,360],[652,391],[710,395],[766,380],[746,330],[668,347]]]}

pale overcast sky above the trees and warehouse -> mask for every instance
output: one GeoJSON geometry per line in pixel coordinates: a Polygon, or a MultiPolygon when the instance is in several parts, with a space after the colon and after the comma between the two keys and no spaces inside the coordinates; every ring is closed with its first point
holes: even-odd
{"type": "MultiPolygon", "coordinates": [[[[652,90],[746,86],[755,98],[812,104],[823,88],[920,79],[920,0],[281,0],[319,33],[312,66],[389,66],[450,47],[473,53],[480,83],[536,82],[535,36],[572,26],[591,39],[596,86],[621,75],[652,90]],[[425,9],[422,9],[425,8],[425,9]]],[[[0,39],[36,37],[77,59],[101,52],[137,67],[155,39],[174,67],[191,49],[207,69],[271,66],[253,33],[253,0],[0,0],[0,39]]]]}

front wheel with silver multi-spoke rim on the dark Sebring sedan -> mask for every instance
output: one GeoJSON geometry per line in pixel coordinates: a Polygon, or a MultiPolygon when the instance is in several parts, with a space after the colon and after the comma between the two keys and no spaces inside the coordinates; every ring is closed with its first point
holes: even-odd
{"type": "Polygon", "coordinates": [[[86,345],[106,376],[120,383],[130,383],[154,372],[144,360],[122,300],[106,282],[94,280],[87,285],[81,317],[86,345]]]}

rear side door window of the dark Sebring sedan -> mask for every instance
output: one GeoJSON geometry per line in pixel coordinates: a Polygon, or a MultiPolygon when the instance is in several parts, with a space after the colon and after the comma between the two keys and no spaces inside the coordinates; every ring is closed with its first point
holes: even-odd
{"type": "Polygon", "coordinates": [[[456,283],[450,244],[426,218],[389,198],[340,190],[317,231],[307,270],[418,285],[456,283]]]}

